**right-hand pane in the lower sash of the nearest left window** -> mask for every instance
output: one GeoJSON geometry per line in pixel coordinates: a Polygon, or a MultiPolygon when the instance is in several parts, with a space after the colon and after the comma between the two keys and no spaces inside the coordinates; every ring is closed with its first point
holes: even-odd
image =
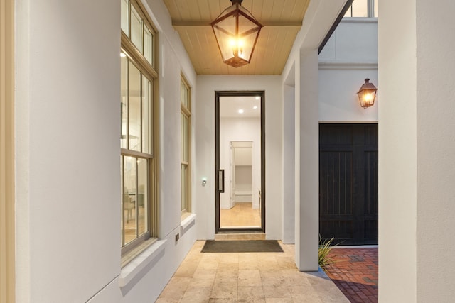
{"type": "Polygon", "coordinates": [[[138,216],[138,225],[139,225],[139,236],[144,234],[146,231],[149,231],[149,221],[147,220],[147,214],[149,212],[148,201],[149,201],[149,192],[147,190],[147,184],[149,183],[148,170],[147,170],[146,159],[137,159],[137,206],[139,209],[138,216]]]}

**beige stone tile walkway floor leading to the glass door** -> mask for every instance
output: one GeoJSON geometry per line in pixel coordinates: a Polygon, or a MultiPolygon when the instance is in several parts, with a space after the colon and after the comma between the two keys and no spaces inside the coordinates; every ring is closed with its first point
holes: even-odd
{"type": "Polygon", "coordinates": [[[299,272],[284,253],[200,253],[196,241],[156,302],[349,302],[323,272],[299,272]]]}

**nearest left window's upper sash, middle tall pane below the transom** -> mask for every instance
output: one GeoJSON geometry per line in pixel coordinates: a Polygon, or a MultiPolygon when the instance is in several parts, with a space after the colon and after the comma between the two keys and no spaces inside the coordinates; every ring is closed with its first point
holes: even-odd
{"type": "Polygon", "coordinates": [[[141,72],[129,65],[129,149],[141,151],[141,72]]]}

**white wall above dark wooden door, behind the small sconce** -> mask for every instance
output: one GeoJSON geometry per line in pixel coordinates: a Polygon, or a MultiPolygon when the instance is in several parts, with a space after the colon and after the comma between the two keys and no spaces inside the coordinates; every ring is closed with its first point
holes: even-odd
{"type": "Polygon", "coordinates": [[[378,84],[378,19],[343,18],[319,54],[319,121],[377,122],[375,105],[360,107],[358,89],[365,78],[378,84]]]}

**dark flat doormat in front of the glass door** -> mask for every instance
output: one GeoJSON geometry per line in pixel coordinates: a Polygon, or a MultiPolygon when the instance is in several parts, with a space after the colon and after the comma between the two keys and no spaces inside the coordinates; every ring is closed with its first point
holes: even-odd
{"type": "Polygon", "coordinates": [[[282,253],[276,240],[205,241],[202,253],[282,253]]]}

